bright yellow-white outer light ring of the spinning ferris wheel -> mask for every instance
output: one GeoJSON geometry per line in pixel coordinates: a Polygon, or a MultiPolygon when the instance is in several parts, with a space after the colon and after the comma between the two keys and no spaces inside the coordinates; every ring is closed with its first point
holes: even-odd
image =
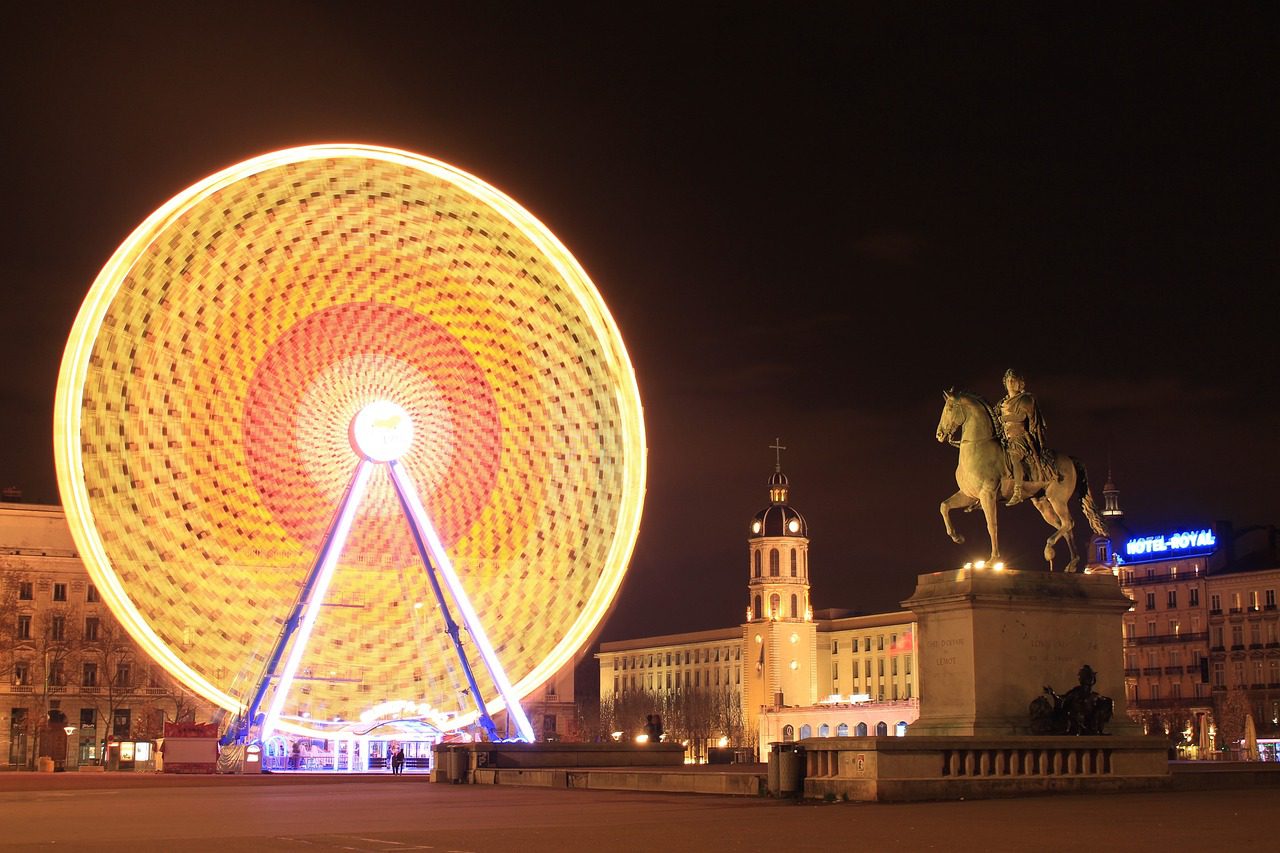
{"type": "MultiPolygon", "coordinates": [[[[68,338],[59,371],[54,407],[54,457],[59,491],[72,537],[90,578],[99,587],[104,601],[142,648],[197,694],[224,708],[241,710],[243,706],[236,697],[215,686],[209,679],[188,666],[155,633],[131,599],[119,575],[111,569],[111,561],[102,534],[97,528],[86,487],[81,444],[81,403],[90,371],[90,359],[104,318],[122,284],[157,234],[164,233],[166,228],[201,202],[247,175],[291,163],[330,158],[362,158],[424,172],[461,188],[488,205],[504,216],[525,238],[530,240],[543,254],[543,257],[557,269],[562,279],[571,287],[579,307],[590,323],[595,339],[609,345],[602,347],[600,355],[612,366],[612,377],[616,383],[614,403],[620,414],[618,432],[622,437],[621,455],[623,457],[623,491],[613,525],[614,534],[607,552],[605,566],[591,594],[584,602],[579,617],[550,653],[516,683],[516,693],[527,695],[534,688],[554,675],[590,639],[622,583],[639,534],[645,492],[646,444],[639,387],[612,315],[585,270],[568,250],[545,225],[499,190],[438,160],[408,151],[367,145],[314,145],[275,151],[205,178],[165,202],[129,234],[90,288],[68,338]]],[[[488,707],[492,711],[499,711],[503,706],[500,701],[493,701],[488,703],[488,707]]],[[[475,713],[465,715],[458,717],[457,724],[466,725],[474,720],[475,713]]]]}

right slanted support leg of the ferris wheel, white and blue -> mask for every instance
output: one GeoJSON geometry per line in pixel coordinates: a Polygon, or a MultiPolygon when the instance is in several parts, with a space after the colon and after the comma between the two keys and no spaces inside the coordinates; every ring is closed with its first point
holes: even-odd
{"type": "Polygon", "coordinates": [[[458,625],[453,621],[448,605],[444,601],[444,593],[435,576],[436,570],[444,578],[444,583],[449,588],[449,593],[453,596],[453,602],[457,605],[458,611],[462,615],[462,622],[466,625],[467,633],[471,634],[471,639],[480,652],[480,658],[485,663],[485,669],[489,670],[489,678],[493,679],[494,686],[498,688],[498,694],[507,706],[508,720],[512,720],[516,724],[516,731],[518,733],[521,740],[532,743],[534,727],[530,725],[529,717],[525,715],[525,710],[520,706],[520,698],[516,695],[511,679],[507,678],[507,671],[502,669],[502,663],[498,661],[498,654],[494,651],[493,644],[489,643],[489,637],[485,634],[484,626],[480,624],[480,617],[471,606],[471,599],[467,598],[466,590],[462,589],[462,583],[458,579],[457,573],[453,570],[453,564],[449,562],[449,556],[444,551],[444,544],[436,535],[435,528],[431,525],[431,521],[426,515],[426,510],[422,507],[422,502],[417,497],[417,491],[413,488],[412,482],[410,482],[404,475],[404,471],[398,462],[390,461],[387,465],[392,473],[392,483],[396,487],[396,494],[399,497],[401,507],[403,507],[404,515],[410,523],[410,529],[413,534],[413,543],[417,546],[419,555],[422,557],[422,564],[426,567],[428,578],[431,581],[431,589],[435,592],[435,597],[440,602],[440,612],[444,615],[445,630],[453,640],[453,647],[458,652],[458,660],[462,662],[462,670],[467,676],[467,684],[471,686],[471,695],[480,712],[481,726],[484,726],[492,740],[499,739],[498,729],[493,722],[493,717],[489,716],[489,711],[485,708],[480,688],[476,685],[471,665],[467,662],[466,652],[462,648],[462,637],[458,631],[458,625]]]}

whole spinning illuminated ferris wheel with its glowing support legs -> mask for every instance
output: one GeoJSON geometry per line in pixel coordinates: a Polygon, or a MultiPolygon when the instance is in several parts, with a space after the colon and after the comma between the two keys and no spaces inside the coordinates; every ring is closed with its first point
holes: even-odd
{"type": "Polygon", "coordinates": [[[506,708],[589,639],[644,494],[631,364],[520,205],[323,145],[183,191],[63,357],[67,519],[120,622],[259,736],[506,708]]]}

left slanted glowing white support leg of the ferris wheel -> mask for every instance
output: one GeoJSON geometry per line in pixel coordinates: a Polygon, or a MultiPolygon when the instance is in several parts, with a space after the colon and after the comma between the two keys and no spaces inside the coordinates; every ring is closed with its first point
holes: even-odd
{"type": "Polygon", "coordinates": [[[311,629],[315,628],[316,616],[320,615],[320,605],[324,603],[325,593],[329,592],[329,581],[333,580],[333,573],[338,567],[338,557],[342,556],[342,549],[347,544],[347,534],[351,533],[351,524],[356,517],[356,510],[360,508],[360,500],[364,497],[371,471],[372,465],[366,460],[361,460],[356,466],[356,473],[352,475],[351,483],[347,485],[347,493],[338,502],[338,511],[320,543],[316,561],[302,581],[302,588],[298,592],[297,601],[293,603],[293,610],[289,611],[289,616],[284,620],[284,628],[280,629],[280,635],[275,640],[271,656],[262,667],[262,678],[253,690],[253,699],[244,716],[243,730],[246,735],[253,724],[257,722],[259,708],[262,704],[262,698],[266,695],[266,688],[275,675],[275,667],[284,654],[285,647],[289,644],[289,638],[297,634],[293,640],[293,648],[289,651],[289,657],[284,663],[284,670],[280,672],[275,685],[275,693],[271,695],[271,704],[262,719],[262,727],[259,736],[265,742],[275,731],[275,724],[280,717],[280,711],[284,708],[284,697],[293,684],[293,676],[297,674],[298,663],[302,661],[302,652],[311,639],[311,629]]]}

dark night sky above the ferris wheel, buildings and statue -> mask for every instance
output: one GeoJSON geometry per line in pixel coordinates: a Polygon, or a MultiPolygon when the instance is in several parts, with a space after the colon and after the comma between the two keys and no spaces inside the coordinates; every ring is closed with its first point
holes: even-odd
{"type": "MultiPolygon", "coordinates": [[[[358,141],[509,193],[613,311],[650,479],[604,639],[741,621],[774,437],[815,607],[986,556],[980,514],[943,534],[933,433],[1007,366],[1132,528],[1280,521],[1263,4],[105,5],[6,19],[0,484],[27,501],[58,501],[59,360],[124,237],[223,167],[358,141]]],[[[1044,565],[1029,505],[1002,530],[1044,565]]]]}

